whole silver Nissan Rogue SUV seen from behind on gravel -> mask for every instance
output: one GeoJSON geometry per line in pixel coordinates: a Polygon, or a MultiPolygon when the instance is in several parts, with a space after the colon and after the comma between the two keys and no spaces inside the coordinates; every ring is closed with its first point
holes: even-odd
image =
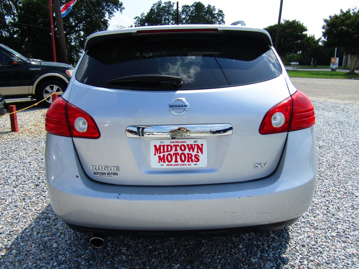
{"type": "Polygon", "coordinates": [[[263,29],[94,33],[46,115],[52,207],[97,247],[279,230],[312,202],[314,122],[263,29]]]}

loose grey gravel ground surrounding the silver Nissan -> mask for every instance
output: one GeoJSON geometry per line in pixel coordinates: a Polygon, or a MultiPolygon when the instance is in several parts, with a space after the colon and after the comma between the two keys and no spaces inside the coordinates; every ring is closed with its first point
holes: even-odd
{"type": "Polygon", "coordinates": [[[293,226],[205,239],[116,237],[99,250],[89,245],[90,235],[70,230],[52,211],[46,109],[19,113],[19,133],[7,131],[8,117],[0,118],[0,268],[359,268],[359,106],[313,104],[317,188],[293,226]]]}

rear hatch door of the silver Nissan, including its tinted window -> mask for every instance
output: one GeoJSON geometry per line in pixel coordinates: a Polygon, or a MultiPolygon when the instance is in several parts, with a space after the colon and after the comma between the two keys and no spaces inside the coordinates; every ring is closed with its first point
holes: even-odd
{"type": "Polygon", "coordinates": [[[289,91],[272,48],[239,39],[147,36],[127,38],[127,46],[116,39],[90,48],[69,98],[101,133],[73,139],[87,175],[114,184],[187,185],[271,174],[286,133],[258,129],[289,91]],[[183,84],[133,77],[108,82],[134,75],[178,76],[183,84]]]}

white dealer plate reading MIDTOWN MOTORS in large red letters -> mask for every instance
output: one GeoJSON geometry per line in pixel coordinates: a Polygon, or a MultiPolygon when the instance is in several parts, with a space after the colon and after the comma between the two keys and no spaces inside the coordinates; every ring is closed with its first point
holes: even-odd
{"type": "Polygon", "coordinates": [[[207,166],[207,140],[151,140],[151,167],[188,168],[207,166]]]}

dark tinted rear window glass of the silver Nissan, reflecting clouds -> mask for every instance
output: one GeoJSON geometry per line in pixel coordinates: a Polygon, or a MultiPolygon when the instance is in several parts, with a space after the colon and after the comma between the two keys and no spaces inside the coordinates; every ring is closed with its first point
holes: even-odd
{"type": "Polygon", "coordinates": [[[128,37],[90,48],[76,72],[84,84],[115,89],[211,89],[252,84],[281,74],[274,52],[256,39],[236,36],[128,37]],[[171,83],[108,83],[125,76],[179,76],[171,83]]]}

